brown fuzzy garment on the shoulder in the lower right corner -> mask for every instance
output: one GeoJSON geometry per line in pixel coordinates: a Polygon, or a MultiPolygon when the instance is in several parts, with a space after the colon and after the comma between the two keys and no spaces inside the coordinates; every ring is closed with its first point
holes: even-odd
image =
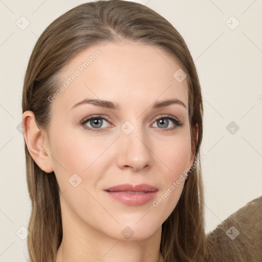
{"type": "Polygon", "coordinates": [[[207,243],[208,262],[261,262],[262,196],[247,203],[208,233],[207,243]]]}

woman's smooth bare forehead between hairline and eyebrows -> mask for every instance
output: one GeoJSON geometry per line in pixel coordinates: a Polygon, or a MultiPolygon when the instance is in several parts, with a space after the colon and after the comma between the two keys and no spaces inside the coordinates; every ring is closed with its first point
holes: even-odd
{"type": "Polygon", "coordinates": [[[82,51],[65,66],[58,87],[63,86],[63,91],[53,106],[69,111],[83,98],[110,100],[134,108],[166,98],[177,98],[187,105],[187,79],[178,81],[178,70],[180,64],[156,46],[100,43],[82,51]]]}

